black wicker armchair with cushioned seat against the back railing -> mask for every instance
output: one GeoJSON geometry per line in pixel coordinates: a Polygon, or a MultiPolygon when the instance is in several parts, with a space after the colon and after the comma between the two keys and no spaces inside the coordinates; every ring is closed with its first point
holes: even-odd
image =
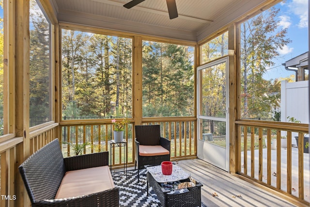
{"type": "Polygon", "coordinates": [[[160,165],[162,161],[170,160],[170,140],[160,137],[159,125],[137,125],[136,131],[136,162],[135,170],[138,165],[138,182],[139,182],[139,170],[143,169],[146,165],[160,165]],[[162,153],[163,150],[159,148],[159,153],[152,151],[150,155],[141,151],[141,146],[156,146],[163,148],[165,151],[169,151],[169,154],[162,153]]]}

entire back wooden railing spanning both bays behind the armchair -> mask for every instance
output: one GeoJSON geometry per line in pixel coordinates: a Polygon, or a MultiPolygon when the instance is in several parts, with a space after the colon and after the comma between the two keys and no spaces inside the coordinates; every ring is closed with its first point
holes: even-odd
{"type": "MultiPolygon", "coordinates": [[[[148,118],[143,125],[161,125],[161,136],[171,140],[171,160],[196,157],[196,118],[148,118]]],[[[82,154],[109,151],[109,141],[113,139],[113,126],[110,120],[70,120],[61,124],[63,156],[73,156],[78,147],[85,145],[82,154]],[[78,144],[77,144],[78,143],[78,144]]],[[[127,164],[133,166],[135,162],[134,124],[125,127],[124,139],[127,142],[127,164]]],[[[123,166],[124,148],[112,148],[112,166],[123,166]]]]}

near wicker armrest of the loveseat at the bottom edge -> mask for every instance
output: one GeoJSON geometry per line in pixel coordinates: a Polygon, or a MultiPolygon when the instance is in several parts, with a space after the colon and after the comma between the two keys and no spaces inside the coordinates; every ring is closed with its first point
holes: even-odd
{"type": "Polygon", "coordinates": [[[32,207],[119,207],[119,189],[117,187],[89,195],[74,198],[42,200],[31,204],[32,207]]]}

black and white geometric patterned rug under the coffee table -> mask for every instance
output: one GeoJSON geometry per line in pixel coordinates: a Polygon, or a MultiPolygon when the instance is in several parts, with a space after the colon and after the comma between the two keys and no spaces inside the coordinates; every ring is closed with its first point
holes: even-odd
{"type": "MultiPolygon", "coordinates": [[[[147,196],[146,169],[140,170],[138,183],[137,170],[128,170],[127,179],[120,172],[112,172],[115,186],[120,190],[120,207],[161,207],[152,187],[147,196]]],[[[202,207],[206,207],[202,204],[202,207]]]]}

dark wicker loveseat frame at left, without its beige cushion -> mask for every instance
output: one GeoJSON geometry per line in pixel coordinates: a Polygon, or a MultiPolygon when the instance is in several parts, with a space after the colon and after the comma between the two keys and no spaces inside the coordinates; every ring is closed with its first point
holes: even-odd
{"type": "Polygon", "coordinates": [[[72,198],[55,199],[67,171],[108,164],[108,152],[63,158],[59,141],[55,139],[26,159],[19,166],[19,172],[32,207],[118,207],[119,189],[117,187],[72,198]]]}

